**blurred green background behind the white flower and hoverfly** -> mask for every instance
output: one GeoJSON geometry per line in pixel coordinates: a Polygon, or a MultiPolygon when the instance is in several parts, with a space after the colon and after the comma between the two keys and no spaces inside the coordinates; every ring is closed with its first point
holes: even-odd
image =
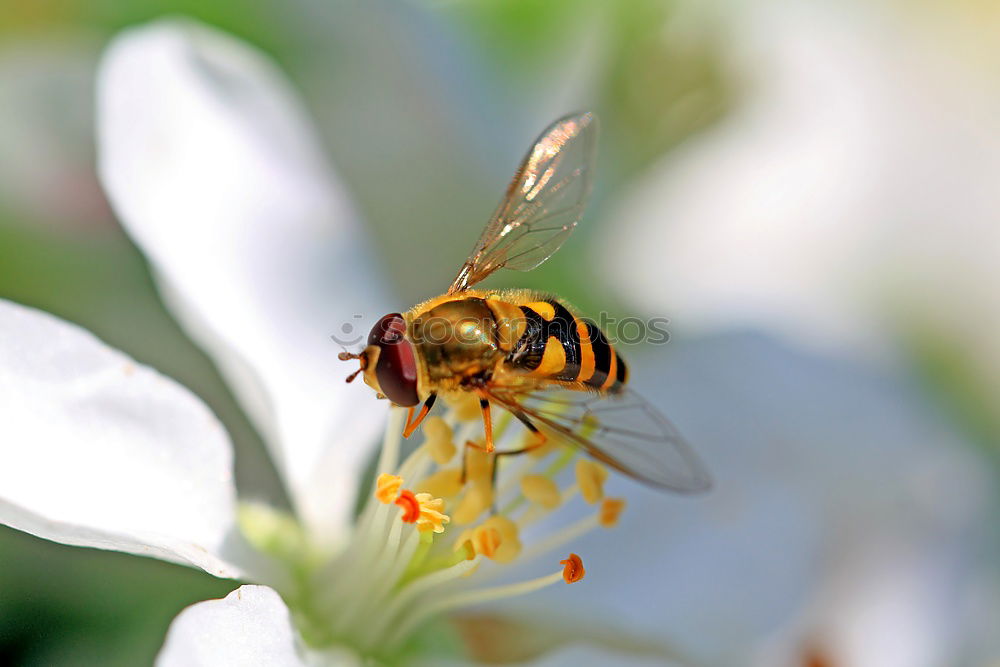
{"type": "MultiPolygon", "coordinates": [[[[997,71],[988,6],[876,7],[891,21],[939,21],[942,48],[970,76],[997,71]]],[[[530,138],[561,113],[596,110],[600,178],[587,223],[516,282],[622,314],[621,294],[581,280],[579,267],[616,223],[608,202],[724,120],[744,92],[721,55],[726,11],[660,0],[12,0],[0,14],[0,296],[80,323],[191,387],[233,433],[239,486],[287,503],[259,437],[164,310],[104,200],[93,76],[111,36],[183,14],[271,54],[307,100],[401,307],[452,277],[530,138]],[[428,251],[410,251],[427,239],[428,251]]],[[[906,340],[915,382],[992,452],[1000,417],[989,378],[935,332],[906,340]]],[[[0,528],[0,663],[146,664],[181,608],[232,587],[0,528]]]]}

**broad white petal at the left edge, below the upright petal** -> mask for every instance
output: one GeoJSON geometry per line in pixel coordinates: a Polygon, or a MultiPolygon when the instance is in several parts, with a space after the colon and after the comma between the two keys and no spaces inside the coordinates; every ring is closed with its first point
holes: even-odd
{"type": "Polygon", "coordinates": [[[3,523],[240,576],[228,436],[169,378],[0,301],[0,428],[3,523]]]}

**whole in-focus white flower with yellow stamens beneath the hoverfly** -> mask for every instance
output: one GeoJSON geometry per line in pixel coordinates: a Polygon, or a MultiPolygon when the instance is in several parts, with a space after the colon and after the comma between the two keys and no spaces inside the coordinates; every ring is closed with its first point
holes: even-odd
{"type": "MultiPolygon", "coordinates": [[[[572,475],[556,478],[574,452],[525,457],[494,491],[486,458],[464,447],[479,426],[461,406],[428,419],[426,442],[402,461],[401,415],[389,420],[375,493],[354,517],[386,404],[344,383],[328,336],[389,308],[347,198],[266,59],[164,22],[117,39],[98,86],[116,212],[267,440],[295,516],[238,505],[228,436],[190,392],[74,325],[0,301],[0,414],[16,443],[3,450],[0,521],[267,584],[182,613],[166,665],[440,657],[437,616],[582,578],[567,545],[613,525],[622,505],[602,504],[598,481],[582,519],[522,537],[584,504],[572,475]],[[533,574],[491,584],[514,559],[533,574]]],[[[499,419],[498,442],[504,428],[499,419]]]]}

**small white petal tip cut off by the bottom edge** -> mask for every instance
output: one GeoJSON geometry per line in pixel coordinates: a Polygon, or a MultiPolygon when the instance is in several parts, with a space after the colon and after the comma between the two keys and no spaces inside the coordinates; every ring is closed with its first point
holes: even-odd
{"type": "Polygon", "coordinates": [[[303,667],[288,607],[267,586],[240,586],[221,600],[178,614],[156,658],[158,667],[268,665],[303,667]]]}

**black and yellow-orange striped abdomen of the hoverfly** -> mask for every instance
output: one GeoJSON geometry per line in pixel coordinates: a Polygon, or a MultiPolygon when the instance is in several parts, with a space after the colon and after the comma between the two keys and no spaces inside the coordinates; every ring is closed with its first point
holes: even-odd
{"type": "Polygon", "coordinates": [[[511,366],[536,377],[582,382],[612,393],[625,385],[628,367],[596,324],[574,317],[556,299],[520,309],[527,324],[507,356],[511,366]]]}

